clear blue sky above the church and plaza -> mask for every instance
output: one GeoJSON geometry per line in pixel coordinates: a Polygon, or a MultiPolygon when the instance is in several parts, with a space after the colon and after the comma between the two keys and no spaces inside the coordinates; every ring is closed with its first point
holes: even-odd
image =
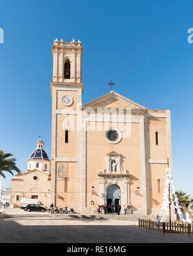
{"type": "MultiPolygon", "coordinates": [[[[176,188],[193,195],[193,2],[2,1],[0,148],[21,171],[39,134],[51,154],[51,46],[80,39],[83,103],[115,91],[149,109],[170,109],[176,188]]],[[[10,176],[3,186],[10,185],[10,176]]]]}

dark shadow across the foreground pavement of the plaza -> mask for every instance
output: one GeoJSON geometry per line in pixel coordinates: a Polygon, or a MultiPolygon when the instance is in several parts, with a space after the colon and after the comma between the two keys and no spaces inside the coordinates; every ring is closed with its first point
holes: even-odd
{"type": "MultiPolygon", "coordinates": [[[[72,223],[72,224],[71,224],[72,223]]],[[[162,234],[138,226],[23,226],[0,220],[1,243],[192,243],[193,236],[162,234]]]]}

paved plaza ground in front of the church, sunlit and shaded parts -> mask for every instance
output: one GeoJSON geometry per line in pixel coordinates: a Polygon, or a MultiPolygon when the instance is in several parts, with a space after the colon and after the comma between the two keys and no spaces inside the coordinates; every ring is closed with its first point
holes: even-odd
{"type": "Polygon", "coordinates": [[[49,216],[5,209],[7,219],[0,220],[0,242],[49,243],[188,243],[193,236],[156,233],[138,228],[138,222],[106,219],[103,215],[49,216]]]}

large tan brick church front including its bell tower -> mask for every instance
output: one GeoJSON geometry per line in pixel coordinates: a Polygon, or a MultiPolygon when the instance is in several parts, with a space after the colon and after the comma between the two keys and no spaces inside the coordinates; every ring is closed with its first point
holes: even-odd
{"type": "Polygon", "coordinates": [[[82,105],[82,43],[56,39],[52,50],[51,202],[79,213],[111,203],[160,213],[167,159],[172,168],[170,111],[113,89],[82,105]]]}

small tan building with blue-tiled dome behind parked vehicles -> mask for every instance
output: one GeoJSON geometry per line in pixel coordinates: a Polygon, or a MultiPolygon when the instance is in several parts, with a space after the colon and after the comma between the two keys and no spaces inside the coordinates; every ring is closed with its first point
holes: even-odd
{"type": "Polygon", "coordinates": [[[12,179],[11,204],[14,208],[21,206],[22,198],[38,199],[45,206],[50,206],[51,161],[44,150],[44,142],[40,138],[36,149],[26,160],[27,170],[18,173],[12,179]]]}

